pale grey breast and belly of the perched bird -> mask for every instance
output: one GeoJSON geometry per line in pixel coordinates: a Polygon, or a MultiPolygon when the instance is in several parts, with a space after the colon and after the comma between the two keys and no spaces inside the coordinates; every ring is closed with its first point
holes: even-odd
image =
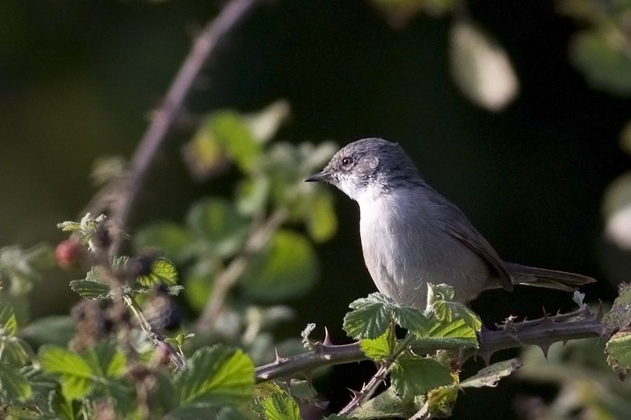
{"type": "Polygon", "coordinates": [[[424,308],[426,283],[448,283],[456,299],[475,297],[488,276],[484,262],[442,226],[449,202],[426,188],[395,188],[360,204],[366,266],[376,287],[393,300],[424,308]]]}

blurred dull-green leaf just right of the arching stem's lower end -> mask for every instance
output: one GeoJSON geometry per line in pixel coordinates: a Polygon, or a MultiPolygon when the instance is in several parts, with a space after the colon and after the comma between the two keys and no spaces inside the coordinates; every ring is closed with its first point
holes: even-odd
{"type": "Polygon", "coordinates": [[[133,237],[134,247],[138,251],[147,248],[158,249],[166,258],[176,262],[182,262],[189,257],[193,240],[193,235],[184,226],[170,222],[145,226],[133,237]]]}

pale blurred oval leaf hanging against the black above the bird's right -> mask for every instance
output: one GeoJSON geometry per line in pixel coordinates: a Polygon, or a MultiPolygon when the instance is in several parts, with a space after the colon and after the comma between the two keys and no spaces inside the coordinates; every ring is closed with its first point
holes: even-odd
{"type": "Polygon", "coordinates": [[[517,96],[519,80],[506,51],[480,27],[456,21],[449,58],[454,82],[471,102],[501,111],[517,96]]]}

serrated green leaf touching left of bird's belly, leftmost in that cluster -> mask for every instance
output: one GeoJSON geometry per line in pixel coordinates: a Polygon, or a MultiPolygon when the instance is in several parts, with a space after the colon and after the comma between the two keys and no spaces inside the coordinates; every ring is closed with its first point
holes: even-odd
{"type": "Polygon", "coordinates": [[[344,330],[354,339],[376,338],[393,319],[393,300],[381,293],[371,293],[348,305],[352,311],[344,316],[344,330]]]}

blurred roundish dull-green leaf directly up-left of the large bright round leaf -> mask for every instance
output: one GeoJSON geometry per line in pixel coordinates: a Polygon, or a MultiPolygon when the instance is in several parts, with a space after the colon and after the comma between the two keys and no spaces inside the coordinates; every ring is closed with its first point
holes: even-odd
{"type": "Polygon", "coordinates": [[[186,223],[220,258],[227,258],[243,245],[249,225],[233,204],[220,198],[197,202],[189,210],[186,223]]]}

